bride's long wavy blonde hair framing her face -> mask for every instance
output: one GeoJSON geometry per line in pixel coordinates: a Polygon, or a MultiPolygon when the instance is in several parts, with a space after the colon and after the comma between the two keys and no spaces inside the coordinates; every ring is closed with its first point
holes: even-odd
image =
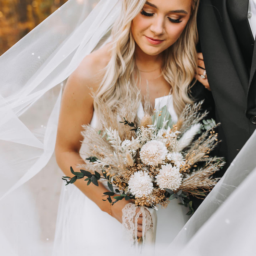
{"type": "MultiPolygon", "coordinates": [[[[100,118],[102,116],[99,102],[105,102],[112,111],[117,111],[124,98],[129,96],[135,100],[138,96],[136,83],[139,81],[139,72],[135,63],[135,41],[131,32],[131,23],[145,3],[146,0],[122,0],[122,12],[111,32],[111,59],[94,100],[94,110],[100,118]]],[[[182,35],[164,53],[162,74],[171,85],[174,109],[178,116],[186,103],[193,103],[188,94],[197,70],[195,45],[198,41],[196,27],[198,5],[199,0],[192,0],[191,17],[182,35]]]]}

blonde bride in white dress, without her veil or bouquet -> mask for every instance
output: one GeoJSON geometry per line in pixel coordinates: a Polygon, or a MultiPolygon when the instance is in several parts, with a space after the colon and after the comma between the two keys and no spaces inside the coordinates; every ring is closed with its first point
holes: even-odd
{"type": "MultiPolygon", "coordinates": [[[[65,176],[72,175],[70,166],[78,171],[86,158],[82,125],[99,128],[104,120],[98,100],[107,102],[118,116],[127,90],[134,98],[131,104],[140,91],[138,118],[141,113],[143,117],[143,99],[148,96],[153,109],[168,104],[174,122],[185,104],[193,103],[189,88],[196,72],[197,8],[198,0],[122,1],[111,42],[83,59],[63,92],[55,154],[65,176]]],[[[125,244],[122,209],[129,202],[122,200],[110,207],[102,201],[104,184],[86,186],[83,180],[74,184],[62,189],[53,255],[71,255],[74,248],[76,255],[80,255],[77,248],[93,252],[98,239],[102,250],[118,237],[125,244]]],[[[177,200],[157,211],[157,244],[175,238],[188,220],[187,211],[177,200]]],[[[142,236],[142,217],[137,236],[142,236]]]]}

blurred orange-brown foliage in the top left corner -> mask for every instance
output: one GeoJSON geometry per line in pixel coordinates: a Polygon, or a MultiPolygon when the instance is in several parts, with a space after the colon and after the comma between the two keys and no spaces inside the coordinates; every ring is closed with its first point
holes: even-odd
{"type": "Polygon", "coordinates": [[[0,55],[67,0],[0,0],[0,55]]]}

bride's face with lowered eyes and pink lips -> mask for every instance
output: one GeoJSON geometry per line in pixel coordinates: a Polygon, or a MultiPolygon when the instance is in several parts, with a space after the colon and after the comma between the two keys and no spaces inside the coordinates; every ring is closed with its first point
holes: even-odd
{"type": "Polygon", "coordinates": [[[192,0],[148,0],[133,19],[131,30],[137,46],[155,56],[181,36],[191,14],[192,0]]]}

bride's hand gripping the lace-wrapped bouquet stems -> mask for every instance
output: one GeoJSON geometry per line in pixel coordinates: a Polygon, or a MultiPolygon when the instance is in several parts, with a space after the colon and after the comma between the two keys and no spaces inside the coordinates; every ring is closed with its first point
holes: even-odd
{"type": "MultiPolygon", "coordinates": [[[[120,223],[122,223],[122,209],[129,203],[131,203],[132,200],[121,200],[115,203],[113,206],[110,205],[110,215],[117,219],[120,223]]],[[[139,208],[136,209],[136,213],[139,212],[139,208]]],[[[137,221],[137,227],[138,227],[138,232],[137,236],[142,237],[142,214],[139,216],[138,221],[137,221]]]]}

